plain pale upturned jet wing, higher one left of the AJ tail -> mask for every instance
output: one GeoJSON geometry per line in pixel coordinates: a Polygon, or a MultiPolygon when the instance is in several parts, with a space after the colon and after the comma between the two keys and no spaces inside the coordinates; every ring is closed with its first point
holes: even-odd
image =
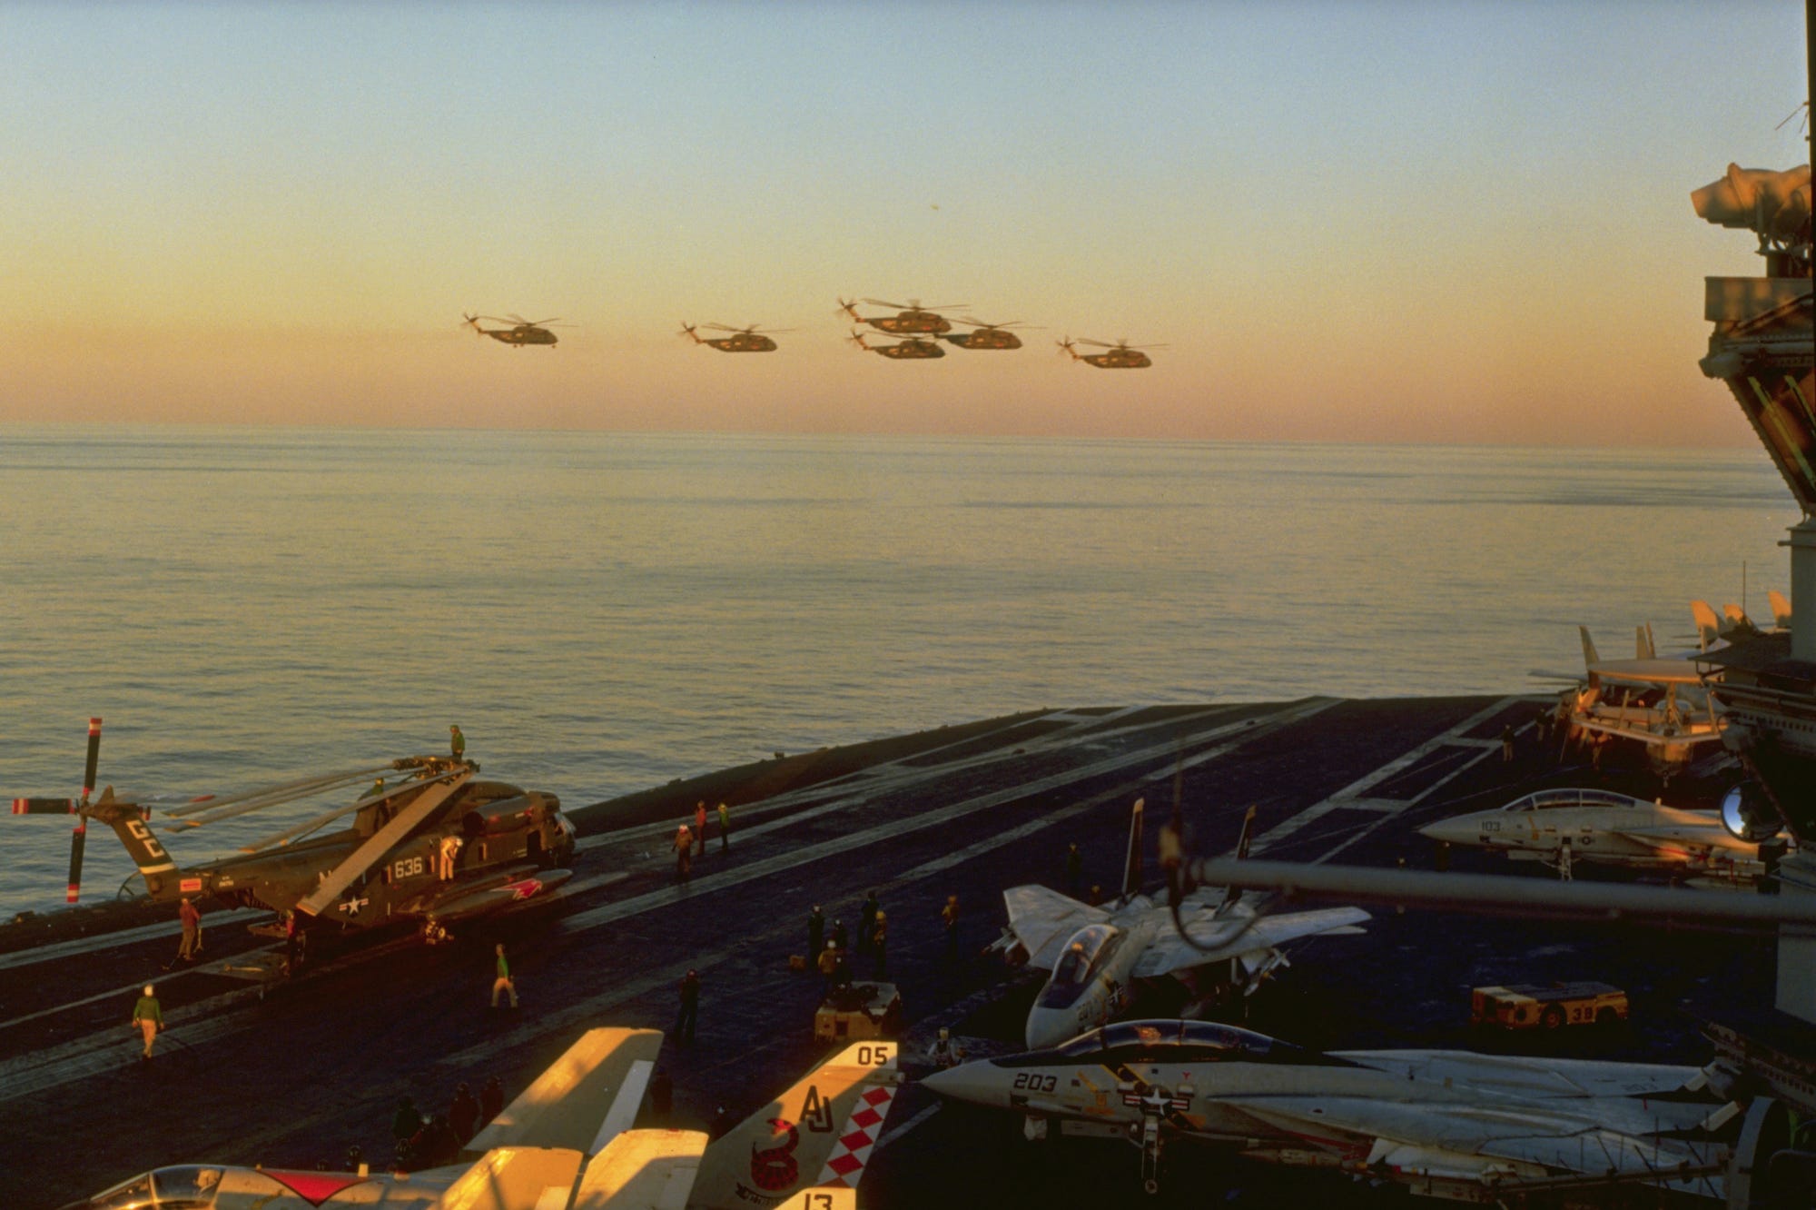
{"type": "Polygon", "coordinates": [[[554,1146],[594,1155],[628,1130],[656,1070],[661,1030],[587,1030],[463,1154],[554,1146]]]}

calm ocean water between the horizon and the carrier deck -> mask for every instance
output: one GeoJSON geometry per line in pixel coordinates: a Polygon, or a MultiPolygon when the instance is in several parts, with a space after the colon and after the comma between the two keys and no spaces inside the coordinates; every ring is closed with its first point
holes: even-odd
{"type": "MultiPolygon", "coordinates": [[[[1767,614],[1756,449],[0,429],[0,794],[443,750],[572,805],[1010,710],[1536,689],[1767,614]]],[[[173,841],[202,859],[316,805],[173,841]]],[[[0,825],[0,912],[69,823],[0,825]]],[[[84,896],[131,876],[91,836],[84,896]]]]}

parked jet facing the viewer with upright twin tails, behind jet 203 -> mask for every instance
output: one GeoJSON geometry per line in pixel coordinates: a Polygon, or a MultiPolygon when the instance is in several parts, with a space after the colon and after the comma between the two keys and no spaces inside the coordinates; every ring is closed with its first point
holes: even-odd
{"type": "MultiPolygon", "coordinates": [[[[1242,819],[1239,854],[1248,852],[1253,819],[1253,810],[1242,819]]],[[[1317,934],[1360,932],[1357,925],[1369,917],[1360,908],[1320,908],[1253,919],[1253,908],[1239,894],[1202,888],[1180,901],[1179,921],[1191,936],[1206,930],[1240,936],[1200,948],[1179,936],[1171,908],[1137,894],[1140,834],[1142,799],[1135,799],[1122,898],[1113,907],[1090,907],[1046,887],[1002,892],[1010,925],[999,945],[1026,952],[1037,970],[1051,970],[1028,1010],[1030,1046],[1053,1046],[1113,1019],[1130,1007],[1135,979],[1171,976],[1197,1001],[1228,992],[1249,996],[1286,963],[1278,947],[1317,934]]]]}

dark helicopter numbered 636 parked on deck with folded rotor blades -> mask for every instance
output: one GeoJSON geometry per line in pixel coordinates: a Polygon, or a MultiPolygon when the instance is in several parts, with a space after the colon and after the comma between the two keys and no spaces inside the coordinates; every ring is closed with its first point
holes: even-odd
{"type": "Polygon", "coordinates": [[[16,816],[76,816],[71,903],[80,892],[89,819],[114,830],[153,901],[214,896],[231,907],[294,914],[305,928],[332,921],[354,932],[412,919],[427,941],[438,941],[450,921],[516,907],[572,876],[565,867],[574,858],[574,825],[561,814],[561,799],[505,781],[479,781],[476,761],[449,756],[409,756],[280,787],[187,799],[160,812],[176,819],[163,830],[205,827],[390,770],[405,774],[389,788],[378,781],[350,805],[243,845],[242,856],[182,868],[151,830],[153,803],[167,799],[127,801],[107,787],[91,801],[100,741],[102,721],[89,719],[82,798],[13,799],[16,816]],[[350,827],[312,836],[345,816],[352,816],[350,827]]]}

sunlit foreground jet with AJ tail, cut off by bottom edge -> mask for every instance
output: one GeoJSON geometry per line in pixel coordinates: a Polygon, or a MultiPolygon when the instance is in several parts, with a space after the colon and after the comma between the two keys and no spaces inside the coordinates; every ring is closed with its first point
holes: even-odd
{"type": "Polygon", "coordinates": [[[750,1205],[852,1210],[901,1079],[895,1043],[846,1046],[712,1143],[697,1130],[632,1130],[659,1030],[587,1030],[467,1143],[458,1163],[410,1174],[178,1165],[71,1210],[648,1210],[750,1205]],[[799,1195],[797,1195],[799,1194],[799,1195]]]}

